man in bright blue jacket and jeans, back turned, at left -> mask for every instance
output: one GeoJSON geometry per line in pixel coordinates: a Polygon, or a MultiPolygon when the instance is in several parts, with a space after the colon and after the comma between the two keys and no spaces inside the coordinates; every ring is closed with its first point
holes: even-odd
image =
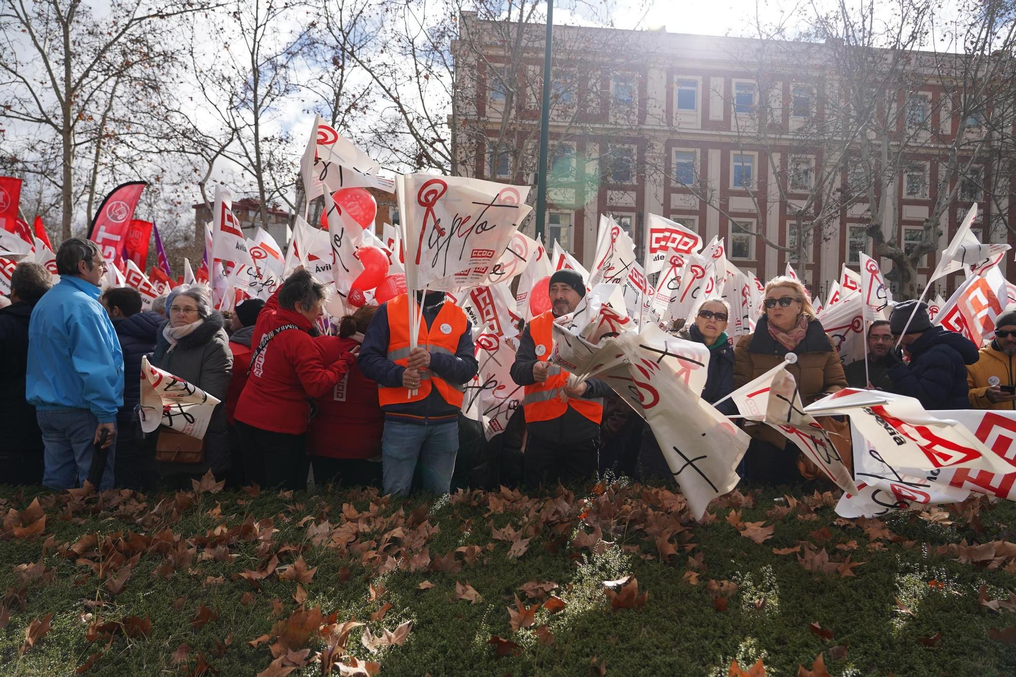
{"type": "Polygon", "coordinates": [[[36,304],[28,324],[25,396],[36,407],[46,446],[43,484],[82,485],[105,431],[109,456],[100,488],[108,489],[117,410],[124,401],[124,360],[99,303],[106,262],[94,242],[70,238],[60,245],[56,263],[60,283],[36,304]]]}

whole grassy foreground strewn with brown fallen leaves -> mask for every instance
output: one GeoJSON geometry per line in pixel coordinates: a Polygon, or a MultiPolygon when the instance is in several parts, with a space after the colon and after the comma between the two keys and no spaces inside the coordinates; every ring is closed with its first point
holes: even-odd
{"type": "Polygon", "coordinates": [[[0,673],[1016,674],[1013,503],[835,500],[0,487],[0,673]]]}

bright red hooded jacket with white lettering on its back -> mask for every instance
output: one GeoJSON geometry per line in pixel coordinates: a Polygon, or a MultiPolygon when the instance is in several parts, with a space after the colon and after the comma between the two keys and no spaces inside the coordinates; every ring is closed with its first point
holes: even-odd
{"type": "Polygon", "coordinates": [[[254,360],[237,403],[236,419],[261,430],[299,435],[307,432],[310,398],[331,392],[357,358],[343,353],[337,360],[325,362],[317,342],[308,333],[311,321],[296,310],[279,308],[278,292],[265,302],[257,317],[251,348],[256,351],[265,333],[283,324],[295,324],[299,329],[276,333],[254,360]]]}

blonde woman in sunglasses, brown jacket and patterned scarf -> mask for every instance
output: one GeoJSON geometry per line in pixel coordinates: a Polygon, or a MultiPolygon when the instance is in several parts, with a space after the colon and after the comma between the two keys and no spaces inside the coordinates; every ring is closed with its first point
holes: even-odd
{"type": "MultiPolygon", "coordinates": [[[[797,360],[787,364],[786,370],[797,381],[806,406],[846,387],[839,353],[815,318],[804,285],[779,275],[766,283],[763,298],[762,316],[755,332],[742,336],[734,351],[734,387],[739,388],[769,371],[783,362],[788,353],[793,353],[797,360]]],[[[771,427],[746,423],[745,431],[753,438],[745,454],[745,479],[784,484],[801,479],[799,470],[807,479],[815,477],[817,471],[813,472],[810,461],[799,463],[797,447],[771,427]]]]}

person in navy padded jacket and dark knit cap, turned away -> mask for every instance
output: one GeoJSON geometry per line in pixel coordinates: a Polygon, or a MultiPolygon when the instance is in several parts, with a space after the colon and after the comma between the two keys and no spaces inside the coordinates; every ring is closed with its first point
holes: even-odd
{"type": "Polygon", "coordinates": [[[900,348],[891,353],[899,363],[887,372],[892,392],[916,397],[929,411],[969,409],[966,366],[974,364],[978,357],[973,342],[956,331],[933,326],[928,304],[915,300],[893,308],[889,328],[897,340],[902,334],[900,348]],[[902,361],[903,350],[910,356],[909,364],[902,361]]]}

